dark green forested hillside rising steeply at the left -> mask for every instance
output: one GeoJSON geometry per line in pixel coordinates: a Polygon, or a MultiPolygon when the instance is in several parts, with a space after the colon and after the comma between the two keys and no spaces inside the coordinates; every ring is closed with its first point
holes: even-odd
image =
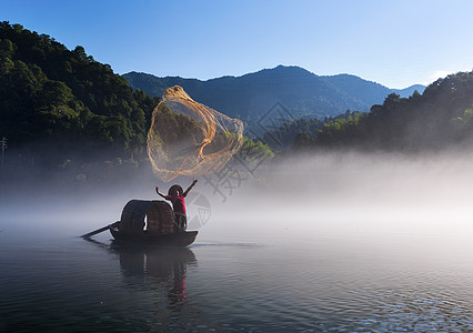
{"type": "Polygon", "coordinates": [[[143,153],[157,102],[82,47],[0,22],[0,135],[37,163],[143,153]]]}

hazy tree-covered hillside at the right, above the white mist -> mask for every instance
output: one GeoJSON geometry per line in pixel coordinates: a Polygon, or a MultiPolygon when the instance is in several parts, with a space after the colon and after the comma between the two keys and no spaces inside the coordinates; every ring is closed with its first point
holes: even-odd
{"type": "MultiPolygon", "coordinates": [[[[369,113],[326,122],[305,148],[356,148],[419,152],[473,142],[473,72],[430,84],[423,94],[392,93],[369,113]]],[[[305,138],[306,139],[306,138],[305,138]]]]}

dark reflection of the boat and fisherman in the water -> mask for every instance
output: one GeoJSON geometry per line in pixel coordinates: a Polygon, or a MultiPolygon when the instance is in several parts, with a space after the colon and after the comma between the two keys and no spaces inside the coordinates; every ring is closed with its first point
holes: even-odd
{"type": "MultiPolygon", "coordinates": [[[[185,305],[185,274],[188,264],[197,262],[189,248],[118,248],[120,266],[125,279],[140,276],[153,281],[153,286],[167,292],[168,309],[180,311],[185,305]],[[151,279],[149,279],[151,278],[151,279]]],[[[135,281],[128,281],[133,283],[135,281]]]]}

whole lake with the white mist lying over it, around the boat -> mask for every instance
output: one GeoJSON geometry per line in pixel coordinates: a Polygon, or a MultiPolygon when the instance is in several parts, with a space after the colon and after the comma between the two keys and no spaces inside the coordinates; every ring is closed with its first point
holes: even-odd
{"type": "Polygon", "coordinates": [[[188,198],[200,233],[185,249],[78,236],[157,200],[159,181],[2,193],[0,331],[473,331],[472,162],[301,159],[224,200],[200,179],[209,204],[188,198]]]}

